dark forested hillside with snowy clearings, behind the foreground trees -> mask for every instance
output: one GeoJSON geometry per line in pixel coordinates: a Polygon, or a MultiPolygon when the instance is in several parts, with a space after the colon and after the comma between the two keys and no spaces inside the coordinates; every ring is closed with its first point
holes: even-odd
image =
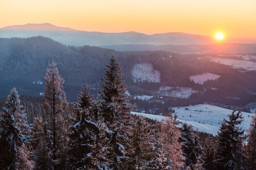
{"type": "Polygon", "coordinates": [[[224,105],[255,102],[256,71],[213,62],[207,58],[208,54],[116,52],[95,46],[66,46],[40,36],[0,39],[0,78],[5,82],[1,84],[0,97],[6,96],[14,86],[21,95],[42,95],[44,70],[52,61],[57,63],[65,79],[64,88],[70,101],[76,100],[85,82],[96,95],[100,87],[98,79],[103,75],[102,67],[112,55],[121,63],[129,94],[143,109],[150,108],[152,102],[154,107],[161,108],[205,101],[224,105]],[[194,76],[197,78],[205,73],[217,76],[217,79],[206,79],[201,84],[195,82],[194,76]],[[151,103],[141,100],[143,95],[150,96],[151,103]]]}

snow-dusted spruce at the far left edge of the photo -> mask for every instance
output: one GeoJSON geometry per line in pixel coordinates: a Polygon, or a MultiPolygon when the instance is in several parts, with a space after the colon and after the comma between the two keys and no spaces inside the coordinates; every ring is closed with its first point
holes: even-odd
{"type": "Polygon", "coordinates": [[[0,169],[13,168],[18,147],[27,139],[16,124],[22,108],[18,92],[13,88],[5,100],[0,116],[0,169]]]}

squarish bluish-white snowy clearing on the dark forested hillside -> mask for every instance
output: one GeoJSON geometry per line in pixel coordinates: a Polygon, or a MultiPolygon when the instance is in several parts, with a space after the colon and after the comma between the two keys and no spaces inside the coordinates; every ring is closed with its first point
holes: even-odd
{"type": "Polygon", "coordinates": [[[131,76],[134,83],[136,82],[153,82],[160,83],[160,72],[154,70],[149,63],[136,64],[131,70],[131,76]]]}

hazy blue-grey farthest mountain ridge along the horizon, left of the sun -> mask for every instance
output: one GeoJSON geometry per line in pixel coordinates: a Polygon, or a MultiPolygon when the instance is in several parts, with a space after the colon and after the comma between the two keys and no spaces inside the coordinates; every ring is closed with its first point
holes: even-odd
{"type": "Polygon", "coordinates": [[[147,44],[147,45],[190,45],[210,44],[210,36],[194,35],[183,32],[156,33],[147,35],[139,32],[89,32],[67,27],[57,27],[49,23],[24,24],[7,26],[0,29],[0,37],[33,37],[44,36],[65,45],[116,45],[116,44],[147,44]]]}

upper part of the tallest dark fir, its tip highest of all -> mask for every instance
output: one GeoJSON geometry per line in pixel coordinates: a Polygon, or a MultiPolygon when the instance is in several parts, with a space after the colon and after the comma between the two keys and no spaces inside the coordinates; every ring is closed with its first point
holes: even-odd
{"type": "Polygon", "coordinates": [[[122,72],[117,59],[112,56],[106,66],[105,76],[101,80],[101,97],[104,101],[103,117],[110,124],[130,115],[130,105],[127,104],[126,86],[122,81],[122,72]]]}

